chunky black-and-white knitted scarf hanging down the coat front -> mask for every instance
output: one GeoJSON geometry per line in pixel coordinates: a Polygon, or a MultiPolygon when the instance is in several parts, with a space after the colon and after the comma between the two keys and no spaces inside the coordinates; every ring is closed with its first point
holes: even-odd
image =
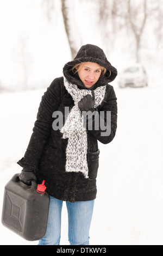
{"type": "MultiPolygon", "coordinates": [[[[85,178],[88,176],[87,167],[87,132],[84,127],[82,112],[78,107],[78,102],[87,94],[92,95],[91,90],[78,89],[76,84],[68,82],[64,76],[64,84],[67,92],[74,100],[71,109],[61,129],[62,138],[68,138],[66,148],[66,172],[82,172],[85,178]]],[[[106,86],[98,87],[95,92],[95,107],[99,106],[105,96],[106,86]]]]}

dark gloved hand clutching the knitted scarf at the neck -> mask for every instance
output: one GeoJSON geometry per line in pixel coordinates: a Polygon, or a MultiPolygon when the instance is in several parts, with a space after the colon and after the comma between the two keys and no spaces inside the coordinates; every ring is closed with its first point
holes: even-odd
{"type": "Polygon", "coordinates": [[[80,108],[80,111],[95,111],[95,93],[92,90],[92,96],[90,94],[87,94],[78,102],[78,106],[80,108]]]}

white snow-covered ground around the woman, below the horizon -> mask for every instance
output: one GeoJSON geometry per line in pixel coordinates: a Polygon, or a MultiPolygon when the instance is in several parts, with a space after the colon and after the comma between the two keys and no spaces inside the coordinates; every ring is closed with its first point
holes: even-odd
{"type": "MultiPolygon", "coordinates": [[[[163,245],[163,87],[115,88],[118,129],[99,143],[98,194],[91,245],[163,245]]],[[[16,162],[27,148],[44,90],[3,93],[1,108],[1,203],[5,184],[21,172],[16,162]]],[[[1,245],[36,245],[1,225],[1,245]]],[[[66,206],[61,245],[68,245],[66,206]]]]}

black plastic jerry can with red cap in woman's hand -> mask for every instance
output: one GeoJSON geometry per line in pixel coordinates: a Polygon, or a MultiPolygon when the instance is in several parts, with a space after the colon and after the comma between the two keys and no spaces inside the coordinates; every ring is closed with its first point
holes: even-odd
{"type": "Polygon", "coordinates": [[[32,181],[23,184],[15,174],[5,185],[2,224],[28,241],[40,240],[46,233],[49,195],[41,185],[32,181]]]}

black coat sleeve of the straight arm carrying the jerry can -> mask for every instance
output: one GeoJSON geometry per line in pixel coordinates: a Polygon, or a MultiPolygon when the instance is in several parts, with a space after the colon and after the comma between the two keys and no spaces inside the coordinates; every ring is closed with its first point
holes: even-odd
{"type": "Polygon", "coordinates": [[[37,170],[43,149],[52,129],[52,114],[60,105],[60,81],[56,78],[42,96],[32,136],[21,160],[17,163],[25,169],[37,170]]]}

